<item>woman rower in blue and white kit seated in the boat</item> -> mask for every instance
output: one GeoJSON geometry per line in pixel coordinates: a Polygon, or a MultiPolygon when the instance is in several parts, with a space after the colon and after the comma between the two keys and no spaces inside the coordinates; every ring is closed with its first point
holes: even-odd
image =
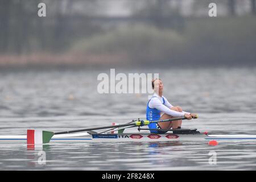
{"type": "MultiPolygon", "coordinates": [[[[163,96],[163,81],[159,78],[152,80],[152,89],[155,93],[148,101],[146,109],[146,118],[148,121],[158,121],[160,119],[170,119],[175,117],[185,117],[192,119],[196,117],[196,114],[185,112],[180,106],[172,106],[168,100],[163,96]],[[162,115],[160,115],[163,113],[162,115]]],[[[156,131],[156,129],[181,129],[182,120],[170,121],[170,122],[158,122],[150,123],[148,125],[151,133],[163,134],[167,131],[156,131]]],[[[179,133],[176,131],[174,133],[179,133]]]]}

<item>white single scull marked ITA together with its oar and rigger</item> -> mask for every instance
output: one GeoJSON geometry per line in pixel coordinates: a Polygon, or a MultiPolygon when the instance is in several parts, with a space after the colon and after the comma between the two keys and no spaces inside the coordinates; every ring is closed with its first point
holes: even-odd
{"type": "MultiPolygon", "coordinates": [[[[195,117],[197,118],[197,117],[195,117]]],[[[128,127],[138,127],[138,130],[148,130],[141,129],[141,126],[148,125],[148,123],[153,122],[168,122],[175,121],[183,118],[171,118],[160,121],[143,121],[139,120],[135,123],[126,123],[123,125],[116,126],[104,126],[104,127],[93,127],[89,129],[71,130],[71,131],[61,131],[53,133],[51,131],[43,131],[46,134],[46,139],[42,139],[39,136],[40,142],[36,142],[34,138],[31,139],[29,133],[27,135],[2,135],[0,136],[0,143],[27,143],[27,144],[41,144],[41,143],[56,143],[56,142],[171,142],[171,141],[198,141],[198,140],[256,140],[256,135],[209,135],[207,132],[200,133],[196,129],[181,129],[181,133],[175,133],[175,130],[168,130],[165,134],[153,134],[153,133],[119,133],[119,134],[109,134],[109,133],[97,133],[92,130],[101,129],[125,129],[128,127]],[[84,131],[84,132],[83,132],[84,131]],[[86,131],[86,132],[85,132],[86,131]],[[183,133],[184,131],[184,133],[183,133]],[[31,142],[32,141],[32,142],[31,142]]],[[[34,130],[32,131],[32,137],[34,137],[34,130]]],[[[160,131],[160,130],[159,130],[160,131]]]]}

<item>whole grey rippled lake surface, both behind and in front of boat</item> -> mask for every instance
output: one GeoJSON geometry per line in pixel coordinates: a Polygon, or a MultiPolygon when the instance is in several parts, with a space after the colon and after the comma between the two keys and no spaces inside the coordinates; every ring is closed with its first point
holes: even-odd
{"type": "MultiPolygon", "coordinates": [[[[256,68],[116,69],[159,73],[172,105],[199,114],[184,121],[214,134],[256,134],[256,68]]],[[[0,134],[27,129],[65,131],[145,118],[148,94],[99,94],[110,69],[0,71],[0,134]]],[[[136,131],[129,130],[129,131],[136,131]]],[[[255,170],[256,141],[57,143],[30,150],[1,144],[1,170],[255,170]],[[216,164],[209,164],[216,152],[216,164]],[[42,156],[46,162],[42,162],[42,156]]]]}

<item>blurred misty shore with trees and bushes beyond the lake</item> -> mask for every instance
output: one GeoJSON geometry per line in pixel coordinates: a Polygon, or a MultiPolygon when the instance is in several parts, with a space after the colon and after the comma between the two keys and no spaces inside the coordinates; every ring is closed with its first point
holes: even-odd
{"type": "Polygon", "coordinates": [[[255,65],[255,0],[1,0],[0,67],[255,65]],[[46,3],[46,17],[38,4],[46,3]],[[209,3],[217,17],[209,17],[209,3]]]}

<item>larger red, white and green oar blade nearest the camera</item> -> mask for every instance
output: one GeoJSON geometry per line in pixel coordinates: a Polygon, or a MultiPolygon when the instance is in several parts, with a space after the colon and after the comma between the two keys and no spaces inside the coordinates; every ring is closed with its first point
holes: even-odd
{"type": "Polygon", "coordinates": [[[51,131],[27,130],[27,144],[49,143],[53,135],[51,131]]]}

